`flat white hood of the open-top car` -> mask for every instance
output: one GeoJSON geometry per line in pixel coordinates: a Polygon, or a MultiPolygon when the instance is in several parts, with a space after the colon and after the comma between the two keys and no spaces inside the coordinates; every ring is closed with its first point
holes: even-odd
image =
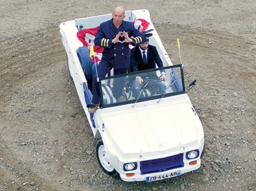
{"type": "Polygon", "coordinates": [[[190,102],[143,108],[103,118],[112,149],[122,158],[184,152],[198,146],[190,102]]]}

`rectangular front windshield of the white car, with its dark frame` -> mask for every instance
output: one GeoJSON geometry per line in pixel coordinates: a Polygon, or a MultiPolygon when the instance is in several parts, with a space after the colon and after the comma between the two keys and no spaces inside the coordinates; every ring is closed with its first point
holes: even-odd
{"type": "Polygon", "coordinates": [[[183,65],[99,78],[102,108],[185,93],[183,65]],[[166,74],[167,80],[162,79],[166,74]],[[142,80],[141,80],[142,79],[142,80]]]}

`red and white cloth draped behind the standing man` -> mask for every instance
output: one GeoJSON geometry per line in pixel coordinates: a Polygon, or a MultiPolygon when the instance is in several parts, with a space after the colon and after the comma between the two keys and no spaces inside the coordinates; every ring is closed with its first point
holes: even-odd
{"type": "MultiPolygon", "coordinates": [[[[147,22],[144,19],[137,19],[136,21],[131,22],[134,24],[134,27],[138,29],[140,32],[144,32],[147,27],[149,26],[149,22],[147,22]]],[[[93,46],[94,48],[94,57],[96,62],[99,62],[102,57],[102,52],[104,50],[104,47],[100,47],[97,45],[94,45],[94,38],[97,34],[97,30],[100,26],[97,26],[95,28],[89,28],[89,29],[83,29],[77,32],[76,36],[78,39],[83,43],[84,46],[88,47],[88,49],[93,46]]],[[[133,47],[130,44],[130,47],[133,47]]],[[[92,62],[94,63],[94,59],[92,59],[92,62]]]]}

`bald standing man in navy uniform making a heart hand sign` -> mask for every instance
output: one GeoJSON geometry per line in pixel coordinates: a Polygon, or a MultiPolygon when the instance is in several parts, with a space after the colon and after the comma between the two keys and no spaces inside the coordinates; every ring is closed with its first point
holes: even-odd
{"type": "MultiPolygon", "coordinates": [[[[97,65],[97,73],[92,77],[92,106],[89,112],[96,112],[99,107],[99,85],[97,78],[105,77],[112,68],[114,75],[127,73],[130,66],[130,51],[129,43],[138,45],[146,39],[143,33],[134,28],[134,24],[124,21],[125,10],[121,6],[114,8],[112,19],[100,24],[94,39],[94,44],[104,47],[102,58],[97,65]],[[131,38],[133,37],[133,38],[131,38]],[[98,76],[97,76],[98,75],[98,76]]],[[[114,81],[113,95],[118,101],[123,101],[125,98],[122,95],[122,81],[114,81]]]]}

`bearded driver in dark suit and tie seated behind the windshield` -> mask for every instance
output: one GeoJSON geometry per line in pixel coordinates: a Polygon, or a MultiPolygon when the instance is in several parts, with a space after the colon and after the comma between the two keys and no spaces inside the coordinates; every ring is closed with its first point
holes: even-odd
{"type": "MultiPolygon", "coordinates": [[[[159,56],[159,53],[155,46],[149,45],[149,37],[152,36],[151,33],[145,34],[146,40],[144,40],[141,44],[131,49],[130,52],[130,64],[131,64],[131,72],[135,71],[143,71],[148,69],[164,67],[163,62],[159,56]]],[[[161,78],[165,82],[167,80],[167,76],[164,70],[160,70],[161,78]]],[[[139,93],[141,88],[145,85],[144,80],[146,79],[157,79],[158,76],[156,72],[147,73],[147,76],[136,76],[136,80],[133,81],[132,90],[136,95],[139,93]]],[[[152,87],[152,89],[156,90],[156,94],[164,94],[166,90],[166,86],[161,81],[149,83],[147,87],[152,87]]],[[[143,94],[140,97],[144,97],[143,94]]]]}

